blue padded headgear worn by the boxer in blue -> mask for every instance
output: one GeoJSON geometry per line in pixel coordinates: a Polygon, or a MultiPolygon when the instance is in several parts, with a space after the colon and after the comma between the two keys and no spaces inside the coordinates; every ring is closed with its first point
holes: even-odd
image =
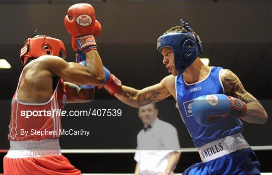
{"type": "Polygon", "coordinates": [[[188,23],[180,20],[188,32],[164,33],[158,38],[157,49],[171,47],[174,51],[175,66],[181,74],[202,53],[202,45],[198,35],[194,35],[188,23]]]}

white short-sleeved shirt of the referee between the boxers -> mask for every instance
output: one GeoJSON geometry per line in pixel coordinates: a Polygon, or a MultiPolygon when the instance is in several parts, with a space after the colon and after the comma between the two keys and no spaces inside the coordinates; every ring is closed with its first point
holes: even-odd
{"type": "Polygon", "coordinates": [[[158,118],[152,128],[142,129],[137,135],[137,152],[134,160],[140,164],[140,174],[164,172],[169,153],[180,149],[176,128],[158,118]]]}

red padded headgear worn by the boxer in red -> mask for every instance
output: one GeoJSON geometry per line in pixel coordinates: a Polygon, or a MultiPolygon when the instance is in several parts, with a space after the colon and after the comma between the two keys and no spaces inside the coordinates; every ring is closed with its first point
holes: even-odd
{"type": "Polygon", "coordinates": [[[25,65],[29,57],[38,58],[42,55],[55,55],[63,59],[66,57],[64,43],[59,39],[45,35],[28,38],[21,49],[21,61],[25,65]]]}

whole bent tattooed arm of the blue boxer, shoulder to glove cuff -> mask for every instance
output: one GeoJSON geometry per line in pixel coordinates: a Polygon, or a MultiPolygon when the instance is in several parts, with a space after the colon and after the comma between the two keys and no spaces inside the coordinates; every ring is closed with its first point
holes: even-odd
{"type": "Polygon", "coordinates": [[[225,94],[246,103],[247,112],[242,120],[248,123],[265,123],[267,114],[261,104],[251,94],[249,94],[242,85],[242,82],[236,74],[228,69],[221,73],[221,80],[224,85],[225,94]]]}

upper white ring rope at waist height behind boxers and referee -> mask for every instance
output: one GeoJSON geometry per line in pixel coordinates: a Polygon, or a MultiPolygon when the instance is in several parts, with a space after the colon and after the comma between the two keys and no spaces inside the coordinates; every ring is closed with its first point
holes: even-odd
{"type": "MultiPolygon", "coordinates": [[[[272,146],[250,146],[254,151],[272,150],[272,146]]],[[[197,148],[180,148],[181,152],[198,152],[197,148]]],[[[135,153],[136,149],[61,149],[62,153],[135,153]]]]}

